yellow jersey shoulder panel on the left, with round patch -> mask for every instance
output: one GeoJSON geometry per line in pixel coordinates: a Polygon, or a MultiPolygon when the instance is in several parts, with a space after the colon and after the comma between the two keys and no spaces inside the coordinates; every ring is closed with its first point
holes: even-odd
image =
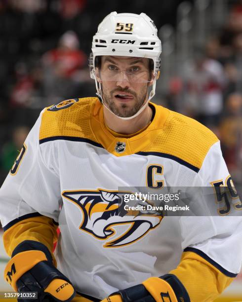
{"type": "Polygon", "coordinates": [[[41,116],[40,142],[58,136],[91,137],[88,125],[96,101],[94,97],[70,99],[45,108],[41,116]]]}

